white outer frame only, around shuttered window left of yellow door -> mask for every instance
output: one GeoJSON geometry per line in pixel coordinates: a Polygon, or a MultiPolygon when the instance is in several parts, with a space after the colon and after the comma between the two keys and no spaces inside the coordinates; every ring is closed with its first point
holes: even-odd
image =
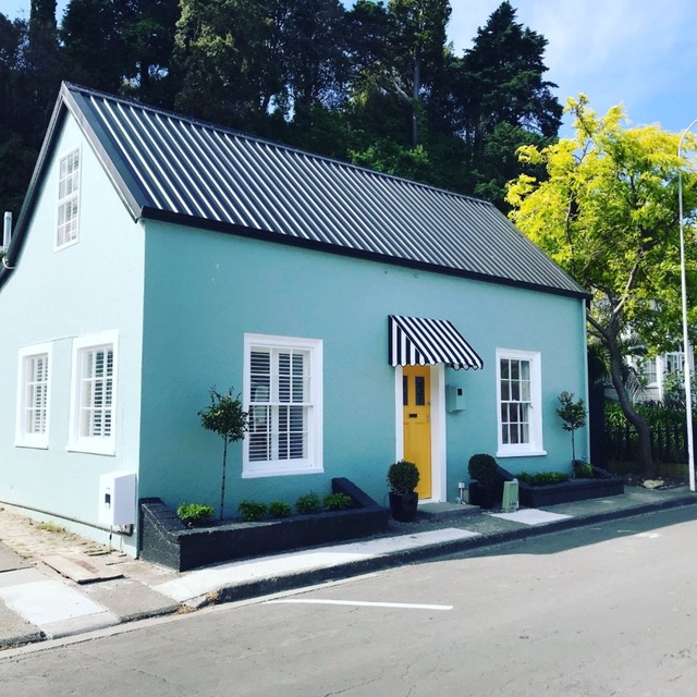
{"type": "Polygon", "coordinates": [[[309,386],[307,405],[306,457],[289,460],[249,460],[249,437],[243,443],[242,477],[276,477],[286,475],[318,474],[323,472],[322,462],[322,341],[269,334],[244,335],[244,409],[254,418],[252,402],[252,352],[274,350],[298,350],[308,353],[309,386]]]}

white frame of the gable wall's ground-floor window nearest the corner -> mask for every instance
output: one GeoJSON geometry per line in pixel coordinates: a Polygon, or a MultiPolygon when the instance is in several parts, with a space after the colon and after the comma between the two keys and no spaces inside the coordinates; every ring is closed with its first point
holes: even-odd
{"type": "Polygon", "coordinates": [[[115,435],[118,427],[118,383],[119,332],[105,331],[73,339],[73,367],[70,399],[70,436],[68,441],[68,450],[83,453],[94,453],[97,455],[115,454],[115,435]],[[85,432],[84,421],[81,418],[84,409],[95,407],[94,404],[87,403],[85,400],[85,383],[93,378],[85,376],[84,360],[89,353],[102,350],[111,350],[113,352],[111,372],[111,405],[106,408],[106,411],[110,411],[111,420],[108,436],[95,436],[85,432]]]}

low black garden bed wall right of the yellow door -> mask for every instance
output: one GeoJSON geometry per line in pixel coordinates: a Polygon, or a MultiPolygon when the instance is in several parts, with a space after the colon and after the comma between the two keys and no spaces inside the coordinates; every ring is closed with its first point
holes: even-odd
{"type": "MultiPolygon", "coordinates": [[[[514,475],[500,468],[505,480],[512,480],[514,475]]],[[[562,484],[531,486],[518,482],[518,502],[522,506],[539,509],[559,503],[572,503],[586,499],[602,499],[624,493],[624,479],[601,469],[592,467],[592,479],[570,479],[562,484]]]]}

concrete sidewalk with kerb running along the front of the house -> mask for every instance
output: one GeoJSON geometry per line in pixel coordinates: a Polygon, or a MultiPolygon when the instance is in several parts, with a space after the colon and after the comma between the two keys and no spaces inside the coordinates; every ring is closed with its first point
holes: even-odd
{"type": "MultiPolygon", "coordinates": [[[[687,487],[645,489],[543,510],[426,504],[379,537],[178,573],[0,510],[0,648],[212,602],[279,592],[413,561],[697,503],[687,487]]],[[[697,509],[696,509],[697,513],[697,509]]]]}

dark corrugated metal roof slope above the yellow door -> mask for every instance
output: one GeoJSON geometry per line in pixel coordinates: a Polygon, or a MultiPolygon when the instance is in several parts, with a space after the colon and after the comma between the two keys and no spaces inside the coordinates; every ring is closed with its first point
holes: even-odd
{"type": "Polygon", "coordinates": [[[135,219],[586,295],[486,201],[64,84],[135,219]]]}

